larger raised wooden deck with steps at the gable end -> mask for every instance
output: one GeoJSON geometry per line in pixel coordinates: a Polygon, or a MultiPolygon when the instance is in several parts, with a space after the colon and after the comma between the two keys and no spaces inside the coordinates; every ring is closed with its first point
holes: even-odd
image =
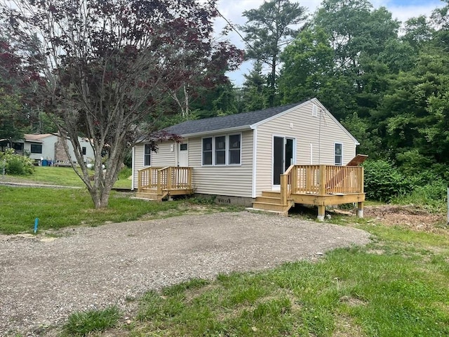
{"type": "Polygon", "coordinates": [[[363,201],[363,167],[292,165],[281,175],[281,190],[262,192],[253,209],[286,215],[295,204],[316,205],[323,220],[326,206],[348,203],[357,203],[357,216],[363,217],[363,201]]]}

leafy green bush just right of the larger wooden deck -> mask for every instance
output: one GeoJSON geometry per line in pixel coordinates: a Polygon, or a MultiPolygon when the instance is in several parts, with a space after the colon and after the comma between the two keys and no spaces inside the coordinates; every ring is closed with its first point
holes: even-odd
{"type": "Polygon", "coordinates": [[[371,200],[391,201],[412,191],[412,183],[399,173],[391,163],[384,160],[368,160],[365,168],[365,192],[371,200]]]}

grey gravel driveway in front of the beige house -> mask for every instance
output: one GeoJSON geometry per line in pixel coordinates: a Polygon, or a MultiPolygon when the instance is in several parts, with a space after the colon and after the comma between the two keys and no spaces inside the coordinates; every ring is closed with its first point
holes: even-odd
{"type": "Polygon", "coordinates": [[[366,244],[362,230],[256,213],[213,213],[0,235],[0,336],[45,336],[74,310],[117,304],[192,277],[260,270],[366,244]]]}

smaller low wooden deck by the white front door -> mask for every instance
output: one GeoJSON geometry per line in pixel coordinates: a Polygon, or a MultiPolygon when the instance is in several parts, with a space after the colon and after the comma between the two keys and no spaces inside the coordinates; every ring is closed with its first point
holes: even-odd
{"type": "Polygon", "coordinates": [[[147,167],[138,171],[138,198],[161,201],[192,193],[191,167],[147,167]]]}

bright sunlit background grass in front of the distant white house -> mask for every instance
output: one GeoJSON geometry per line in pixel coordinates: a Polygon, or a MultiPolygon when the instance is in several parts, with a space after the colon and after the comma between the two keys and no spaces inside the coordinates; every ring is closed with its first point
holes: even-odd
{"type": "MultiPolygon", "coordinates": [[[[20,183],[36,183],[43,185],[61,185],[74,187],[86,186],[71,167],[36,166],[34,169],[34,173],[28,176],[0,176],[0,181],[5,180],[20,183]]],[[[130,169],[126,167],[122,169],[119,173],[119,180],[116,181],[114,187],[130,188],[131,180],[128,179],[130,175],[130,169]]]]}

